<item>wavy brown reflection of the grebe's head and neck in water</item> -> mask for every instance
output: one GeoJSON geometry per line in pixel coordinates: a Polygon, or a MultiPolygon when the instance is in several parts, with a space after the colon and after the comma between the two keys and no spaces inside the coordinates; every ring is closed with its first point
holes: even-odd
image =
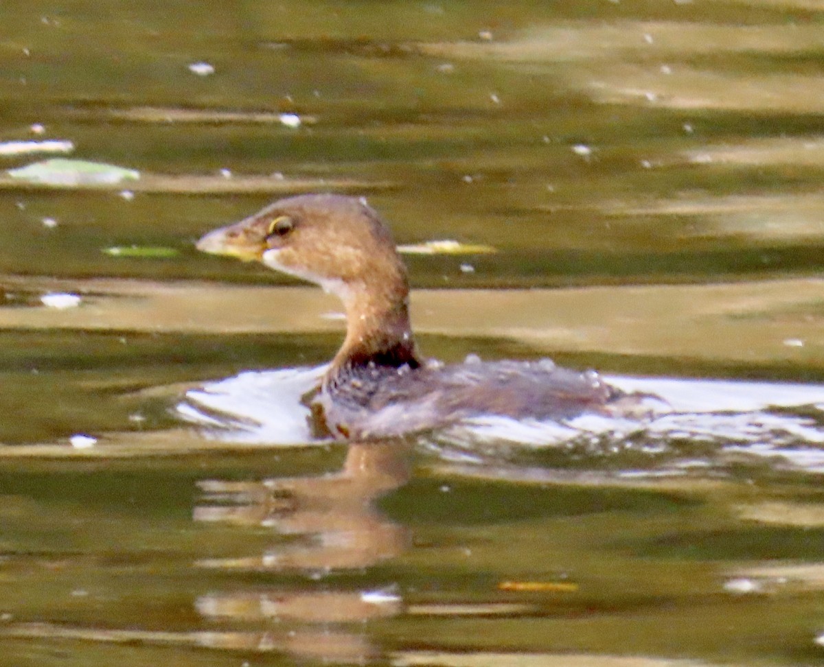
{"type": "Polygon", "coordinates": [[[395,587],[390,582],[377,589],[336,590],[322,575],[363,569],[405,550],[408,529],[388,520],[373,501],[409,479],[406,453],[398,442],[353,443],[338,473],[199,483],[204,497],[194,509],[194,520],[262,526],[279,536],[302,538],[254,556],[202,560],[200,567],[310,576],[300,585],[247,587],[200,597],[196,604],[204,617],[255,626],[254,631],[215,632],[210,646],[281,651],[329,662],[379,655],[367,637],[349,632],[347,625],[400,613],[402,601],[395,587]]]}

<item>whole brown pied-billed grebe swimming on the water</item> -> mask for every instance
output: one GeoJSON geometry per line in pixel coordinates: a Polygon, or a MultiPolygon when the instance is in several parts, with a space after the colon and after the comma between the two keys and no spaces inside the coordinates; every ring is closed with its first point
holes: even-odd
{"type": "Polygon", "coordinates": [[[421,361],[410,325],[406,269],[390,232],[363,199],[281,199],[209,232],[197,247],[258,260],[315,282],[344,302],[346,338],[316,398],[326,426],[338,437],[398,436],[488,414],[614,414],[634,403],[597,374],[548,360],[451,366],[421,361]]]}

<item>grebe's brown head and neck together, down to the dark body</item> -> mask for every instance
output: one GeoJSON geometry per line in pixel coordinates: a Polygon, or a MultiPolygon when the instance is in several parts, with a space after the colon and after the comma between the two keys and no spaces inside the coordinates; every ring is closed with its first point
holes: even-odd
{"type": "Polygon", "coordinates": [[[337,194],[281,199],[209,232],[197,248],[260,261],[339,296],[347,333],[333,371],[370,361],[418,365],[406,269],[389,230],[362,199],[337,194]]]}

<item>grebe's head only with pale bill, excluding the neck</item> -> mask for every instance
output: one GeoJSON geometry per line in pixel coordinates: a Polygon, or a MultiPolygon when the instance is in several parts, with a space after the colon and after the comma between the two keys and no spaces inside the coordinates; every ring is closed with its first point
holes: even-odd
{"type": "Polygon", "coordinates": [[[321,285],[347,301],[362,288],[406,284],[395,243],[363,200],[335,194],[281,199],[234,225],[209,232],[198,250],[257,260],[321,285]]]}

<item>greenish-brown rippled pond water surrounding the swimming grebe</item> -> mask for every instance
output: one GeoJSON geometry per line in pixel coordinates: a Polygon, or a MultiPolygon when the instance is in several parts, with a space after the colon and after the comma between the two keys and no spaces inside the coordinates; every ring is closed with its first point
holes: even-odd
{"type": "Polygon", "coordinates": [[[334,304],[193,247],[306,191],[368,196],[400,244],[497,250],[405,258],[450,290],[414,302],[427,355],[820,381],[818,2],[77,0],[0,25],[0,665],[821,662],[812,385],[704,437],[561,446],[250,445],[176,409],[334,354],[334,304]],[[5,142],[47,139],[141,178],[7,175],[52,155],[5,142]],[[132,245],[169,250],[105,252],[132,245]]]}

